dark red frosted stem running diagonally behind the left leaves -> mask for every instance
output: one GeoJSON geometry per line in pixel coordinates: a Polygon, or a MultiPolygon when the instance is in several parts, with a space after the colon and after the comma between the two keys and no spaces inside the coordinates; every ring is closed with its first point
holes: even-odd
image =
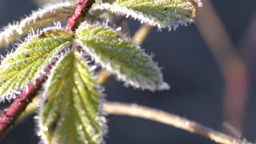
{"type": "MultiPolygon", "coordinates": [[[[95,3],[95,0],[80,0],[75,8],[74,13],[69,18],[65,28],[69,31],[74,31],[80,22],[83,21],[86,13],[88,13],[91,5],[95,3]]],[[[56,62],[56,59],[54,59],[56,62]]],[[[49,72],[51,70],[51,65],[45,67],[44,71],[49,72]]],[[[20,95],[11,103],[9,109],[2,115],[0,119],[0,137],[2,137],[5,132],[13,125],[20,114],[26,109],[30,101],[36,96],[38,89],[42,86],[44,79],[47,76],[39,76],[34,83],[30,83],[26,86],[26,89],[20,93],[20,95]]]]}

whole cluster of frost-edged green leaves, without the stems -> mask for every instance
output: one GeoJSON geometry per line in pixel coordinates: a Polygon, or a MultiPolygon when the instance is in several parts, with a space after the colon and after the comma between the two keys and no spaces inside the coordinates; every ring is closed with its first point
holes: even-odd
{"type": "MultiPolygon", "coordinates": [[[[193,22],[198,7],[199,0],[108,0],[95,4],[75,32],[59,22],[31,32],[1,63],[0,99],[14,99],[29,83],[46,75],[38,120],[43,142],[101,143],[106,119],[101,111],[102,92],[96,83],[95,65],[89,59],[125,85],[150,91],[170,88],[152,56],[133,43],[125,28],[112,26],[103,14],[133,17],[170,30],[193,22]],[[49,67],[50,71],[45,70],[49,67]]],[[[75,3],[65,2],[33,12],[4,28],[0,46],[32,28],[71,16],[74,8],[75,3]]]]}

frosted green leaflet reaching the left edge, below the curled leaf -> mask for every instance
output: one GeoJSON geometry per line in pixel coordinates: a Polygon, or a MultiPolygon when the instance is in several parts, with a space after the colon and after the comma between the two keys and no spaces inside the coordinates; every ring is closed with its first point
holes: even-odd
{"type": "Polygon", "coordinates": [[[51,59],[73,42],[73,33],[61,28],[46,28],[10,53],[0,65],[0,98],[15,98],[14,93],[33,82],[51,59]]]}

